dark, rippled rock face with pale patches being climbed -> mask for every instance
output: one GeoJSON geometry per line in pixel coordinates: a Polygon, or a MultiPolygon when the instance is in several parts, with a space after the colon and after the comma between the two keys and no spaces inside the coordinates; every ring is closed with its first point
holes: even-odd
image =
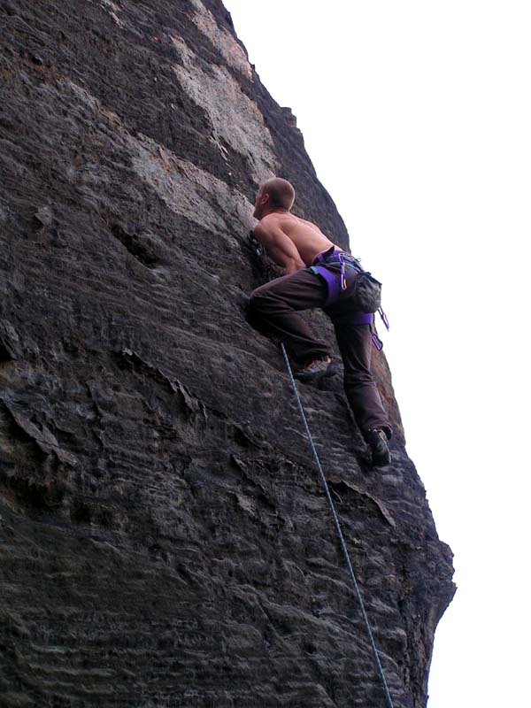
{"type": "MultiPolygon", "coordinates": [[[[0,704],[384,704],[280,352],[258,183],[348,244],[217,0],[2,0],[0,704]]],[[[315,327],[332,336],[321,313],[315,327]]],[[[450,550],[397,435],[302,396],[396,706],[427,700],[450,550]]]]}

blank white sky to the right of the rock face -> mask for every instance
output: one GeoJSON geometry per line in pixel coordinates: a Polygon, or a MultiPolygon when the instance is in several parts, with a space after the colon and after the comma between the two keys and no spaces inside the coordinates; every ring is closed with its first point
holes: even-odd
{"type": "Polygon", "coordinates": [[[531,3],[224,2],[384,283],[407,449],[455,553],[428,708],[531,705],[531,3]]]}

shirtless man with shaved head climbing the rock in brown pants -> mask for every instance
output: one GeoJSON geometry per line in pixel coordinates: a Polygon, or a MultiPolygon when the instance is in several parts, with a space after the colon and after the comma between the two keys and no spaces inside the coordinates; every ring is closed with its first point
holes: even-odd
{"type": "Polygon", "coordinates": [[[334,373],[331,348],[315,338],[302,310],[323,308],[332,320],[344,365],[344,389],[354,418],[373,452],[373,465],[390,463],[388,440],[391,427],[370,370],[372,316],[358,312],[349,301],[347,289],[340,301],[327,303],[327,284],[310,268],[326,266],[340,277],[337,252],[346,268],[354,259],[331,242],[311,221],[290,213],[295,190],[289,181],[273,178],[261,185],[253,216],[259,219],[254,235],[270,258],[286,274],[262,285],[250,295],[250,325],[283,342],[290,358],[299,367],[296,378],[316,381],[334,373]],[[316,257],[320,254],[319,258],[316,257]]]}

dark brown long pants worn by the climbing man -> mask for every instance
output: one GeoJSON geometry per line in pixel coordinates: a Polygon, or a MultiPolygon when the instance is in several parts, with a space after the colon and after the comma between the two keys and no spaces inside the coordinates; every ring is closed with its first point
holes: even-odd
{"type": "Polygon", "coordinates": [[[390,437],[389,419],[371,373],[371,326],[349,324],[349,312],[355,311],[348,297],[325,307],[326,300],[326,284],[304,268],[253,290],[248,321],[262,334],[284,342],[290,358],[304,366],[312,359],[330,356],[331,349],[315,338],[298,312],[323,308],[335,328],[344,366],[344,389],[358,427],[364,435],[369,428],[378,427],[390,437]]]}

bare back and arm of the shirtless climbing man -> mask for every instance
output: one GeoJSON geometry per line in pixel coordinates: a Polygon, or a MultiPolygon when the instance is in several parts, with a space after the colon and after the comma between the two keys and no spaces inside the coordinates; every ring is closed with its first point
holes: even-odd
{"type": "Polygon", "coordinates": [[[289,212],[267,214],[260,219],[254,233],[269,256],[287,273],[312,266],[318,253],[335,245],[312,221],[289,212]]]}

